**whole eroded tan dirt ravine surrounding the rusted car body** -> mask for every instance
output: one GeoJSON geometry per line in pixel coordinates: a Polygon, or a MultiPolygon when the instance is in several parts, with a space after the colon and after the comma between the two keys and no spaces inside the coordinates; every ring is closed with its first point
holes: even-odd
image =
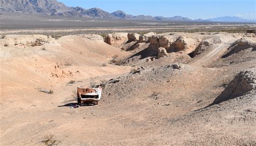
{"type": "Polygon", "coordinates": [[[129,35],[0,35],[0,145],[256,144],[254,34],[129,35]]]}

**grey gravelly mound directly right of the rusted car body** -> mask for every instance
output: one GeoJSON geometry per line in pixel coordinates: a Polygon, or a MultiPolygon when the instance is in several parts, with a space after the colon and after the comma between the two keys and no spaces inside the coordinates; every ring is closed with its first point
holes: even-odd
{"type": "Polygon", "coordinates": [[[169,81],[168,76],[184,75],[185,72],[190,72],[190,70],[192,68],[184,64],[170,64],[158,68],[139,67],[131,70],[128,75],[113,78],[104,83],[102,85],[104,95],[114,98],[127,98],[135,93],[137,95],[145,93],[144,96],[147,96],[147,93],[143,91],[149,89],[153,84],[155,86],[167,82],[169,81]]]}

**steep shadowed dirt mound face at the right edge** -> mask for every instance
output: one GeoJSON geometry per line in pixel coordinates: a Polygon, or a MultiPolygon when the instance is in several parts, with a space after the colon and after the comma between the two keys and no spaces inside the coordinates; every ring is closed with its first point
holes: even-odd
{"type": "Polygon", "coordinates": [[[218,96],[213,104],[219,104],[228,99],[242,96],[243,94],[255,91],[256,89],[256,68],[241,71],[234,77],[227,88],[218,96]]]}

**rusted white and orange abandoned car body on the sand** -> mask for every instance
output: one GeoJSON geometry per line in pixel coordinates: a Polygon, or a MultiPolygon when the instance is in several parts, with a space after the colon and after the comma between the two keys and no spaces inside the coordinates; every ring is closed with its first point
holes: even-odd
{"type": "Polygon", "coordinates": [[[82,104],[95,104],[98,105],[98,102],[102,96],[102,87],[98,88],[86,88],[82,89],[77,87],[77,103],[82,104]]]}

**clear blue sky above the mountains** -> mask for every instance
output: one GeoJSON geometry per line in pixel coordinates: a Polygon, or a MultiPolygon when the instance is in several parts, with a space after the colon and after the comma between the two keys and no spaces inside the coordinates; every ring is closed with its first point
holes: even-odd
{"type": "Polygon", "coordinates": [[[237,16],[256,19],[255,0],[58,0],[68,6],[100,8],[107,12],[122,10],[132,15],[183,16],[207,19],[237,16]]]}

